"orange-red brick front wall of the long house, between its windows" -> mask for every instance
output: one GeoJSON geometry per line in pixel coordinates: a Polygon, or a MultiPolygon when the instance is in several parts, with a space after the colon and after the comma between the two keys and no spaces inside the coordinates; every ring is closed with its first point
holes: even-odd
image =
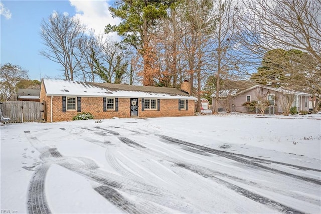
{"type": "MultiPolygon", "coordinates": [[[[51,97],[43,96],[41,91],[41,101],[46,102],[47,121],[51,121],[51,97]]],[[[63,112],[62,97],[53,97],[53,122],[72,120],[77,115],[77,110],[63,112]]],[[[144,110],[141,111],[141,99],[138,100],[138,117],[173,117],[173,116],[192,116],[194,115],[194,100],[189,100],[188,110],[179,110],[178,100],[160,100],[159,111],[144,110]]],[[[109,119],[112,117],[128,118],[130,117],[130,98],[118,98],[118,111],[103,111],[102,97],[81,97],[81,112],[90,112],[95,119],[109,119]]]]}

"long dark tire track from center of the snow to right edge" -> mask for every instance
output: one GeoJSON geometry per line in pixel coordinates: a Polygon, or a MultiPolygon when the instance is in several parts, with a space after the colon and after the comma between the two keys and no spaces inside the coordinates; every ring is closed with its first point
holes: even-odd
{"type": "Polygon", "coordinates": [[[197,148],[197,149],[202,150],[202,151],[206,151],[206,152],[209,152],[209,153],[212,153],[212,154],[216,154],[218,156],[226,157],[228,159],[232,159],[232,160],[235,160],[237,162],[244,163],[246,165],[253,165],[253,166],[260,167],[260,168],[263,168],[265,170],[274,172],[274,173],[283,174],[283,175],[290,176],[290,177],[293,177],[293,178],[296,178],[296,179],[300,179],[300,180],[304,180],[304,181],[307,181],[307,182],[311,182],[311,183],[315,183],[315,184],[321,185],[321,180],[314,179],[314,178],[309,178],[309,177],[304,177],[304,176],[288,173],[288,172],[285,172],[285,171],[281,171],[281,170],[278,170],[278,169],[270,168],[270,167],[261,165],[261,164],[259,164],[257,162],[244,159],[242,157],[253,159],[253,160],[257,160],[257,161],[263,161],[263,162],[273,162],[273,163],[292,166],[292,167],[296,167],[296,168],[300,168],[300,169],[304,169],[304,170],[321,171],[321,170],[318,170],[318,169],[312,169],[312,168],[296,166],[296,165],[287,164],[287,163],[281,163],[281,162],[272,161],[272,160],[264,160],[264,159],[260,159],[260,158],[250,157],[250,156],[247,156],[247,155],[236,154],[236,153],[227,152],[227,151],[221,151],[221,150],[217,150],[217,149],[213,149],[213,148],[209,148],[209,147],[205,147],[205,146],[189,143],[189,142],[186,142],[186,141],[183,141],[183,140],[179,140],[179,139],[176,139],[176,138],[172,138],[172,137],[169,137],[169,136],[165,136],[165,135],[158,135],[158,136],[161,137],[162,139],[166,140],[167,142],[170,142],[170,143],[191,146],[193,148],[197,148]]]}

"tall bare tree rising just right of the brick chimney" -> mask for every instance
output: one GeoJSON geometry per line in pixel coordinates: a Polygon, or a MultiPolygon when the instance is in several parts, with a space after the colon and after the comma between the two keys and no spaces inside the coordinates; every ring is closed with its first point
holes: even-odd
{"type": "MultiPolygon", "coordinates": [[[[209,43],[216,29],[216,11],[213,1],[186,1],[183,5],[182,45],[188,61],[188,74],[193,91],[194,76],[197,82],[197,112],[201,111],[202,71],[206,56],[210,53],[209,43]]],[[[192,92],[193,95],[193,92],[192,92]]]]}

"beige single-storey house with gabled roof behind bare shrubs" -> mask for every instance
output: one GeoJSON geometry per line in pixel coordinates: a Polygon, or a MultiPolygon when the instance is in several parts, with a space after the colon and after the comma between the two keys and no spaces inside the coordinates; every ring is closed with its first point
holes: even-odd
{"type": "MultiPolygon", "coordinates": [[[[220,91],[217,109],[218,111],[248,112],[248,108],[243,106],[245,102],[258,101],[261,98],[264,98],[269,101],[271,106],[274,106],[274,113],[282,113],[284,95],[293,96],[291,106],[296,107],[297,111],[309,110],[309,94],[263,85],[254,85],[247,89],[229,89],[220,91]]],[[[215,94],[212,94],[211,97],[214,103],[215,94]]]]}

